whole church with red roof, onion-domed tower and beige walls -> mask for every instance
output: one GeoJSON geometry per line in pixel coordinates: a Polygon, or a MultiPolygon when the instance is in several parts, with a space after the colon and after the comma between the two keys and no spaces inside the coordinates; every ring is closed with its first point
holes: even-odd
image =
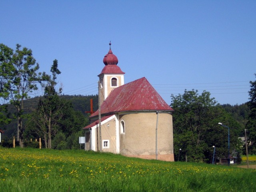
{"type": "Polygon", "coordinates": [[[99,77],[99,109],[84,127],[86,150],[174,161],[173,109],[145,77],[124,84],[111,43],[99,77]]]}

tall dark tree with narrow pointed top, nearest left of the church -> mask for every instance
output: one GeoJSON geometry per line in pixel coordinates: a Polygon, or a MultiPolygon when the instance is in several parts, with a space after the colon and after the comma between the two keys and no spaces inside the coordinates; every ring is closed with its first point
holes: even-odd
{"type": "Polygon", "coordinates": [[[32,121],[35,125],[36,132],[39,136],[43,136],[45,147],[52,148],[52,136],[58,132],[58,123],[63,118],[63,108],[66,106],[64,100],[61,100],[59,94],[62,88],[56,91],[58,61],[54,60],[51,70],[52,75],[45,72],[42,74],[41,86],[44,88],[44,97],[38,101],[36,112],[32,114],[32,121]]]}

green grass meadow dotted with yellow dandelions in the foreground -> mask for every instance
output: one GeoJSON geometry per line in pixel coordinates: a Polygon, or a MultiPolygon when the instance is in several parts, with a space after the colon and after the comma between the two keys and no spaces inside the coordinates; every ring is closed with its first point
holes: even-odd
{"type": "Polygon", "coordinates": [[[255,192],[256,170],[83,150],[0,148],[1,192],[255,192]]]}

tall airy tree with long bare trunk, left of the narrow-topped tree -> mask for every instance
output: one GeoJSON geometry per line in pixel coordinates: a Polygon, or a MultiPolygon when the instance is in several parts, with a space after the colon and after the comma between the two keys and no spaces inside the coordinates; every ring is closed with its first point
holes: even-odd
{"type": "Polygon", "coordinates": [[[24,100],[30,98],[30,93],[37,90],[39,64],[32,56],[32,50],[16,45],[16,51],[12,55],[13,76],[10,82],[10,102],[17,109],[18,130],[17,138],[20,147],[23,147],[24,127],[22,126],[24,100]]]}

